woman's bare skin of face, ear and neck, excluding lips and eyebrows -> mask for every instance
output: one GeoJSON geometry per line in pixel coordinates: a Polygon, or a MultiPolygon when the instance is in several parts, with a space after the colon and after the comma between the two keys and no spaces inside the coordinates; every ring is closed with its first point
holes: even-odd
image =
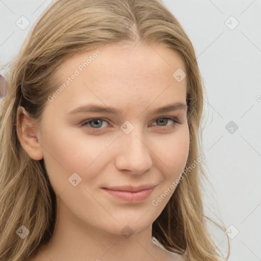
{"type": "Polygon", "coordinates": [[[58,197],[54,235],[28,261],[181,260],[153,244],[151,235],[152,223],[174,193],[170,185],[188,159],[187,81],[178,82],[172,76],[178,68],[186,71],[184,62],[175,51],[160,45],[126,44],[99,50],[83,71],[79,65],[96,50],[77,54],[58,68],[54,79],[58,88],[75,69],[80,75],[46,102],[40,126],[19,115],[21,145],[32,159],[44,159],[58,197]],[[122,114],[69,114],[88,103],[114,107],[122,114]],[[173,103],[184,103],[185,108],[151,114],[173,103]],[[89,119],[96,121],[87,124],[89,119]],[[124,125],[125,121],[131,124],[124,125]],[[126,134],[126,129],[131,132],[126,134]],[[73,173],[77,173],[74,184],[82,179],[76,186],[68,180],[73,173]],[[136,201],[102,189],[144,184],[155,187],[147,198],[136,201]],[[153,205],[152,200],[164,193],[165,198],[153,205]],[[123,234],[124,228],[129,237],[123,234]]]}

